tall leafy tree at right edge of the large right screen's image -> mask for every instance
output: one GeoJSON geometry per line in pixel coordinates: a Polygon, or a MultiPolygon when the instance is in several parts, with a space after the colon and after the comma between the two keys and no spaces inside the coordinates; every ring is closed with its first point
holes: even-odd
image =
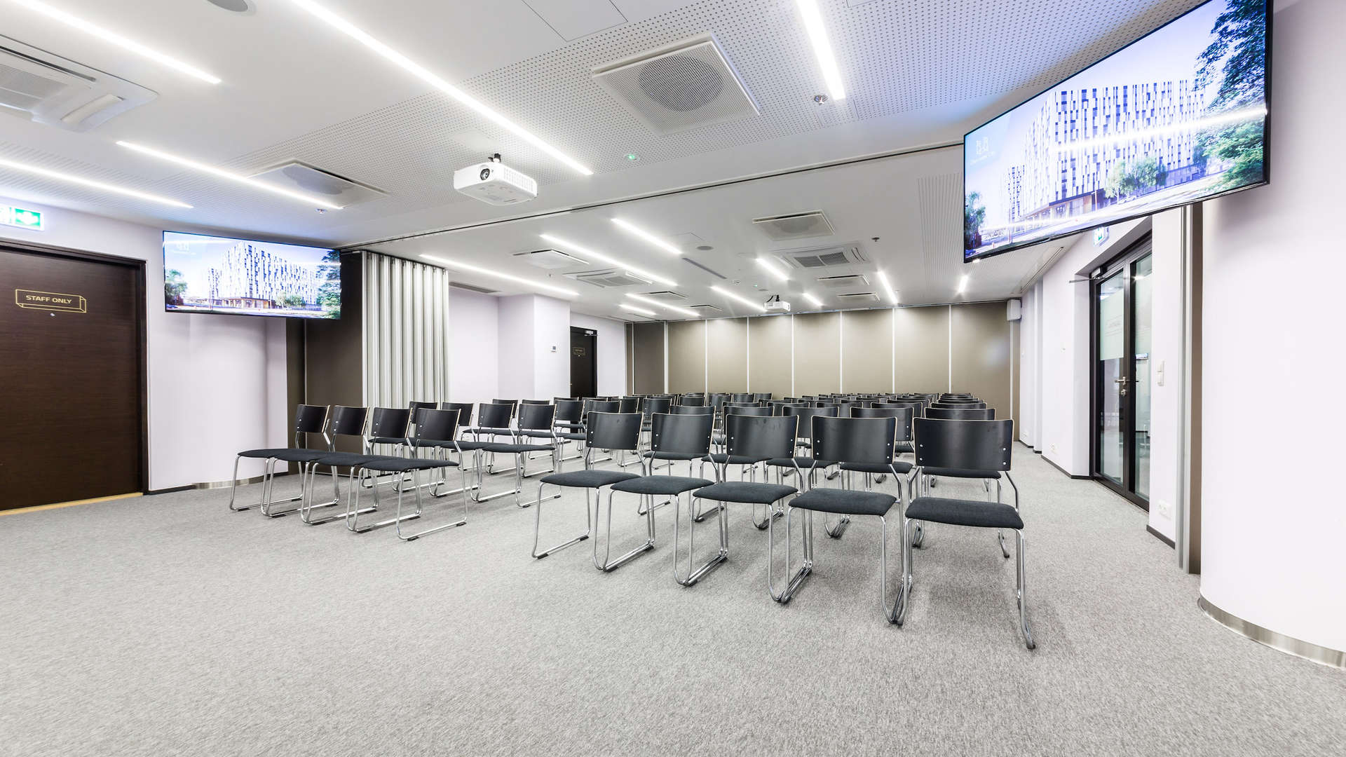
{"type": "MultiPolygon", "coordinates": [[[[1261,105],[1267,97],[1267,0],[1229,0],[1210,30],[1215,40],[1197,57],[1198,86],[1219,81],[1210,113],[1261,105]]],[[[1232,162],[1221,180],[1225,189],[1263,180],[1263,121],[1241,121],[1201,136],[1206,158],[1232,162]]]]}

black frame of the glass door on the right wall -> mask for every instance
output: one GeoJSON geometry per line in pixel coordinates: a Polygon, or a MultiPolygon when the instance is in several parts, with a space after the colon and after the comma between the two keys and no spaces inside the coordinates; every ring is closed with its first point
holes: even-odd
{"type": "Polygon", "coordinates": [[[1154,255],[1151,233],[1147,232],[1135,242],[1127,245],[1116,257],[1100,267],[1089,277],[1089,475],[1108,489],[1121,494],[1140,509],[1149,512],[1149,500],[1135,492],[1136,489],[1136,317],[1132,310],[1136,286],[1136,261],[1147,255],[1154,255]],[[1098,470],[1102,458],[1100,450],[1101,438],[1098,434],[1098,411],[1102,395],[1102,372],[1098,369],[1098,292],[1102,283],[1109,277],[1125,272],[1125,286],[1123,295],[1123,361],[1121,374],[1127,378],[1127,393],[1123,395],[1121,418],[1119,419],[1119,432],[1123,438],[1121,484],[1104,475],[1098,470]]]}

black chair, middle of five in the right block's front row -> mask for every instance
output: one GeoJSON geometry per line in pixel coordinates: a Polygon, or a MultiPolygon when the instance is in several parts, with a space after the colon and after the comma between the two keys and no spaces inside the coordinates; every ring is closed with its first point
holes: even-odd
{"type": "MultiPolygon", "coordinates": [[[[777,502],[798,492],[794,486],[783,484],[758,484],[755,481],[728,481],[724,467],[728,465],[754,465],[775,458],[787,458],[794,454],[794,435],[800,419],[795,416],[750,416],[730,415],[724,419],[725,453],[724,462],[717,475],[719,482],[692,492],[692,502],[688,502],[688,515],[696,520],[696,500],[711,500],[716,502],[720,525],[720,551],[703,563],[692,567],[692,551],[695,548],[696,525],[688,527],[688,574],[680,577],[677,572],[677,532],[681,529],[677,516],[673,524],[673,578],[682,586],[692,586],[707,572],[715,570],[730,556],[730,519],[727,502],[750,504],[767,508],[766,529],[767,539],[774,539],[771,524],[775,521],[774,506],[777,502]]],[[[705,513],[709,515],[709,513],[705,513]]],[[[704,517],[704,516],[703,516],[704,517]]]]}

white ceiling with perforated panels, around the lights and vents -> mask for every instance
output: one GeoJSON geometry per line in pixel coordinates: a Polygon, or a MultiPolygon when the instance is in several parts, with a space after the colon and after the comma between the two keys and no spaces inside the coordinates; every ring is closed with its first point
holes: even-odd
{"type": "MultiPolygon", "coordinates": [[[[849,97],[817,105],[813,96],[825,89],[791,0],[324,0],[595,170],[592,176],[577,176],[448,97],[427,92],[423,82],[289,0],[256,0],[257,11],[249,15],[206,0],[47,1],[223,82],[205,85],[8,7],[4,35],[147,86],[159,97],[87,133],[0,116],[0,156],[129,185],[194,207],[164,209],[3,168],[0,193],[168,229],[330,245],[956,143],[968,128],[1199,3],[821,0],[849,97]],[[590,78],[595,66],[704,32],[715,34],[760,116],[660,136],[590,78]],[[291,199],[133,154],[114,144],[122,139],[242,174],[302,160],[388,195],[319,214],[291,199]],[[501,209],[452,190],[455,168],[497,151],[538,179],[537,199],[501,209]],[[629,162],[629,152],[639,160],[629,162]]],[[[759,269],[738,257],[770,248],[747,221],[821,209],[837,236],[818,244],[863,241],[871,267],[896,272],[905,303],[946,302],[962,272],[960,159],[958,150],[922,152],[374,248],[408,256],[443,251],[509,265],[514,261],[505,259],[507,253],[545,246],[536,234],[556,230],[686,282],[689,299],[701,300],[709,292],[708,280],[699,276],[708,275],[615,236],[607,218],[621,214],[664,234],[697,234],[716,246],[699,252],[699,261],[743,287],[766,288],[759,269]],[[870,241],[875,236],[879,242],[870,241]]],[[[1012,294],[1039,256],[1040,251],[1023,251],[977,264],[964,296],[1012,294]]],[[[522,272],[542,275],[526,265],[522,272]]],[[[499,287],[482,276],[463,280],[499,287]]],[[[575,307],[614,315],[612,292],[595,292],[586,291],[575,307]]]]}

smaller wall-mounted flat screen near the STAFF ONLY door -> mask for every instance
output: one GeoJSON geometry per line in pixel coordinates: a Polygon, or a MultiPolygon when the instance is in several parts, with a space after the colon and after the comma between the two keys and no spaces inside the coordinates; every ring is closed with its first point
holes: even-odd
{"type": "Polygon", "coordinates": [[[341,253],[164,232],[164,310],[341,318],[341,253]]]}

